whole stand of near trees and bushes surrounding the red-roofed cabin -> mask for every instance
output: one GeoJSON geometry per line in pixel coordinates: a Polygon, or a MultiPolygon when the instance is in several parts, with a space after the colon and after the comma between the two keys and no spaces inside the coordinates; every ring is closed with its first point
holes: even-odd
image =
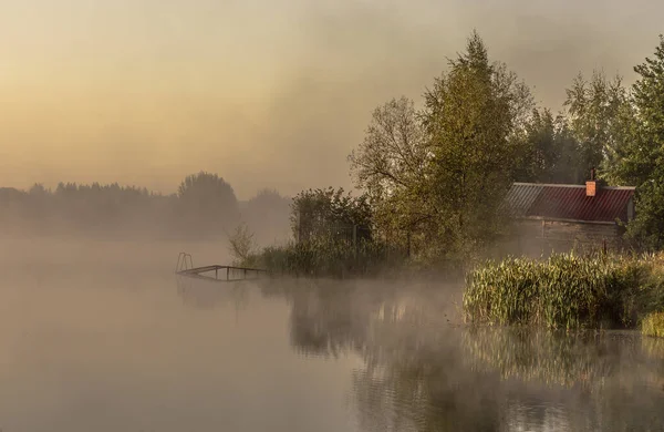
{"type": "Polygon", "coordinates": [[[553,114],[474,32],[422,107],[402,96],[375,109],[349,156],[359,196],[331,188],[295,197],[294,237],[344,220],[423,263],[467,260],[508,234],[502,203],[513,182],[582,184],[596,168],[609,185],[636,186],[626,236],[662,249],[664,38],[634,71],[631,88],[602,71],[579,74],[553,114]]]}

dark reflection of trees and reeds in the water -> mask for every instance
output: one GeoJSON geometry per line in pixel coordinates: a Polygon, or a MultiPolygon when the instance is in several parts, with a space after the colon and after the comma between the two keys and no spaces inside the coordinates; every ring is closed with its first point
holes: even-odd
{"type": "Polygon", "coordinates": [[[430,292],[311,282],[291,304],[304,356],[354,352],[363,431],[662,430],[664,342],[634,332],[456,328],[430,292]]]}

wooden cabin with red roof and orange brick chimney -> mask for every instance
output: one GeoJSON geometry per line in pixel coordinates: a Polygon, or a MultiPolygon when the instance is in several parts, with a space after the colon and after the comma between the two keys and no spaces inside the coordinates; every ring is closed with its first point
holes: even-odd
{"type": "Polygon", "coordinates": [[[634,187],[602,187],[594,178],[585,185],[515,183],[507,205],[520,254],[616,249],[634,217],[634,187]]]}

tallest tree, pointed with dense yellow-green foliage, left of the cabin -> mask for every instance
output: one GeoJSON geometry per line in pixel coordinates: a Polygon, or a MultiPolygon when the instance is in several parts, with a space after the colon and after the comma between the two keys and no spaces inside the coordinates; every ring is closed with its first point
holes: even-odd
{"type": "Polygon", "coordinates": [[[476,32],[449,65],[425,94],[426,194],[436,213],[432,234],[446,251],[467,254],[501,230],[505,194],[527,162],[522,136],[533,102],[513,72],[489,62],[476,32]]]}

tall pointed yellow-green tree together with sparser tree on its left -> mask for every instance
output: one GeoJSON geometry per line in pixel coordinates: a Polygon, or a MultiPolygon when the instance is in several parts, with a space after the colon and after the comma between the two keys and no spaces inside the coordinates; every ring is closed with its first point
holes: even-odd
{"type": "Polygon", "coordinates": [[[498,209],[526,158],[532,96],[473,33],[424,105],[376,109],[351,169],[385,238],[426,260],[466,258],[502,234],[498,209]]]}

